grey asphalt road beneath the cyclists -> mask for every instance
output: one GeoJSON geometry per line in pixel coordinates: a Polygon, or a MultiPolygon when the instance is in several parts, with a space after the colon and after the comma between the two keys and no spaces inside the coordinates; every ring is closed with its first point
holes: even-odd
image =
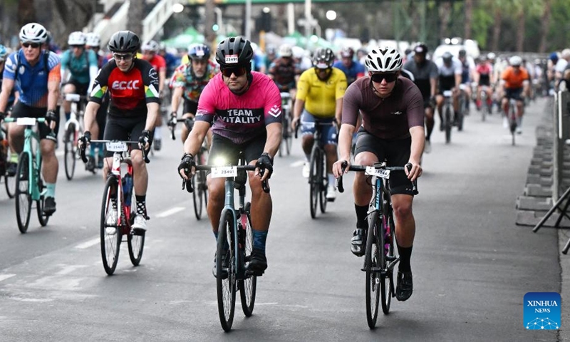
{"type": "Polygon", "coordinates": [[[14,199],[0,189],[0,341],[556,341],[556,331],[523,322],[524,294],[560,291],[556,232],[514,224],[544,107],[527,108],[514,147],[496,114],[467,117],[450,145],[434,133],[414,203],[414,294],[394,299],[375,330],[366,324],[363,259],[350,252],[351,176],[311,219],[299,140],[276,158],[269,269],[254,316],[238,304],[230,333],[219,325],[209,222],[195,219],[176,175],[180,140],[165,140],[148,165],[142,262],[131,266],[123,244],[113,276],[98,238],[103,180],[81,169],[70,182],[61,162],[47,227],[33,212],[20,234],[14,199]]]}

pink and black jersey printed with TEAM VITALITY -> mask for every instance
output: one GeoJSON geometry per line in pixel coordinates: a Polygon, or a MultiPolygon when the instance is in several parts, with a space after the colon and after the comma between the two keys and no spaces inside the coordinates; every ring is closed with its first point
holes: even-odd
{"type": "Polygon", "coordinates": [[[252,71],[252,85],[242,95],[232,93],[218,73],[198,101],[196,120],[212,125],[212,132],[236,144],[265,133],[265,126],[281,123],[281,95],[271,78],[252,71]]]}

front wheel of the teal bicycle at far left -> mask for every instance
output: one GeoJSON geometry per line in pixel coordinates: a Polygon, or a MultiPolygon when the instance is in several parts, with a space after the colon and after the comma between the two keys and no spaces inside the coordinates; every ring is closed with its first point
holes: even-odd
{"type": "Polygon", "coordinates": [[[22,234],[28,231],[31,214],[30,155],[21,152],[16,171],[16,221],[22,234]],[[24,178],[23,178],[24,177],[24,178]]]}

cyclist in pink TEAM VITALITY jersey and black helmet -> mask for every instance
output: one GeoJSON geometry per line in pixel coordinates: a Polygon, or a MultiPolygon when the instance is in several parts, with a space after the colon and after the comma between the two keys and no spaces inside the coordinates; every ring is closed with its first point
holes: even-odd
{"type": "MultiPolygon", "coordinates": [[[[272,204],[261,182],[271,177],[273,157],[281,144],[281,95],[271,78],[252,71],[253,55],[251,43],[241,36],[219,43],[216,61],[221,73],[209,81],[200,95],[196,122],[185,141],[178,172],[186,180],[190,172],[195,172],[194,155],[210,126],[214,134],[208,164],[223,157],[226,164],[237,165],[239,152],[243,152],[246,162],[257,166],[255,172],[249,172],[254,245],[247,269],[262,274],[267,268],[265,242],[272,204]]],[[[208,192],[207,211],[217,239],[224,207],[224,178],[209,179],[208,192]]],[[[215,276],[215,258],[212,271],[215,276]]]]}

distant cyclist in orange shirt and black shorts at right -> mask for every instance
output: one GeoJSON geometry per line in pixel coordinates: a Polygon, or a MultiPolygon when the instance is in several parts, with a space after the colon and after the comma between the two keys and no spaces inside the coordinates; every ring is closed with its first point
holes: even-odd
{"type": "Polygon", "coordinates": [[[509,111],[509,98],[517,100],[517,134],[521,134],[522,115],[524,114],[524,98],[529,95],[529,73],[522,65],[522,58],[512,56],[509,58],[510,66],[501,74],[502,108],[504,113],[503,126],[508,127],[507,113],[509,111]]]}

